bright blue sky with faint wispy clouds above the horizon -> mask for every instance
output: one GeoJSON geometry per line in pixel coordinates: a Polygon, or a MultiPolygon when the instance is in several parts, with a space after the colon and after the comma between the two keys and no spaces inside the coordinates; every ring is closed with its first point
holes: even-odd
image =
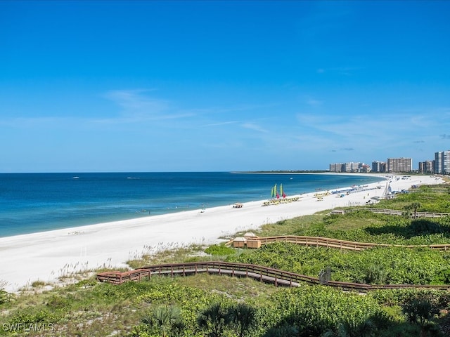
{"type": "Polygon", "coordinates": [[[450,149],[450,1],[0,1],[0,172],[450,149]]]}

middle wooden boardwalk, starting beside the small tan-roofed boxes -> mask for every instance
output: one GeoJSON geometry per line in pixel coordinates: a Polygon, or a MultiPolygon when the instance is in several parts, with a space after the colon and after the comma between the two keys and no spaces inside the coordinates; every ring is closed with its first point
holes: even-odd
{"type": "MultiPolygon", "coordinates": [[[[237,238],[236,238],[237,239],[237,238]]],[[[450,251],[450,244],[430,244],[430,245],[401,245],[401,244],[373,244],[368,242],[352,242],[340,239],[330,239],[328,237],[302,237],[295,235],[284,235],[278,237],[245,237],[244,239],[233,239],[234,247],[238,248],[259,248],[262,244],[271,244],[273,242],[290,242],[292,244],[301,244],[307,247],[326,247],[335,249],[346,249],[350,251],[362,251],[375,247],[401,247],[401,248],[430,248],[440,251],[450,251]]]]}

